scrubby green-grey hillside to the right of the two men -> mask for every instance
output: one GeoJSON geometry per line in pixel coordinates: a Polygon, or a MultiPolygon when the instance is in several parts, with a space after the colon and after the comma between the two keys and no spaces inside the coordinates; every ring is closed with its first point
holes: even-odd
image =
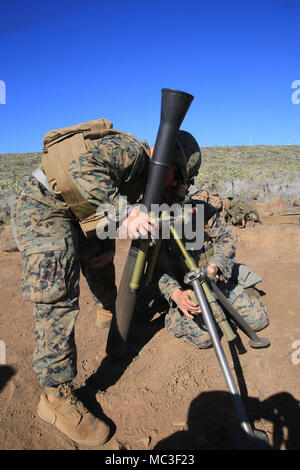
{"type": "Polygon", "coordinates": [[[265,201],[300,197],[300,145],[202,148],[197,188],[222,197],[265,201]]]}

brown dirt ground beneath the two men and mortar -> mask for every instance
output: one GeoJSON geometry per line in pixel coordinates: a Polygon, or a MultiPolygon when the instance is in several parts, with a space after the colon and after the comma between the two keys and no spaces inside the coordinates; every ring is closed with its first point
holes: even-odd
{"type": "MultiPolygon", "coordinates": [[[[272,449],[300,449],[300,226],[261,225],[234,229],[237,261],[263,277],[270,325],[260,336],[267,349],[252,349],[239,332],[236,344],[222,340],[233,376],[257,429],[272,449]]],[[[118,245],[118,278],[128,243],[118,245]]],[[[32,305],[20,292],[21,257],[0,252],[0,449],[87,449],[74,445],[40,420],[41,387],[31,367],[32,305]]],[[[96,415],[102,411],[112,437],[105,450],[232,449],[238,428],[214,349],[197,350],[168,334],[163,315],[139,314],[130,342],[138,354],[112,363],[105,354],[108,330],[95,326],[95,307],[81,280],[76,323],[79,396],[96,415]]]]}

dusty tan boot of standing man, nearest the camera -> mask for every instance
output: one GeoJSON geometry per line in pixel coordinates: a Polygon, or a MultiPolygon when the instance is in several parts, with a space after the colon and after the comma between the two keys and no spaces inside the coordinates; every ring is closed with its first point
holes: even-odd
{"type": "Polygon", "coordinates": [[[108,425],[85,408],[70,383],[45,387],[38,416],[78,444],[98,446],[109,439],[108,425]]]}

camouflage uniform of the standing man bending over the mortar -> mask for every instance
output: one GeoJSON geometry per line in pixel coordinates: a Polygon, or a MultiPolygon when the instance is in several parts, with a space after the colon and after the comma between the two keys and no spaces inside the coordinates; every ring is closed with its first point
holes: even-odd
{"type": "MultiPolygon", "coordinates": [[[[87,200],[95,206],[111,203],[117,210],[121,187],[127,195],[124,181],[131,175],[128,190],[144,182],[147,162],[147,152],[136,140],[109,136],[73,161],[69,174],[87,200]]],[[[74,324],[80,268],[98,303],[106,308],[115,300],[113,262],[97,269],[89,263],[100,253],[114,251],[115,240],[86,239],[63,199],[32,175],[20,188],[12,223],[23,259],[22,291],[34,302],[33,367],[41,385],[55,386],[77,372],[74,324]]]]}

